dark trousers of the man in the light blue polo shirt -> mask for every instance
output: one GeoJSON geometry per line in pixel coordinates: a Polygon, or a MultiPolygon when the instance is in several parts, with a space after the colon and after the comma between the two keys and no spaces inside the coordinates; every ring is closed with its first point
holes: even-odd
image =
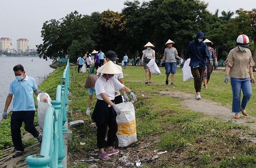
{"type": "Polygon", "coordinates": [[[24,151],[22,140],[21,140],[21,131],[22,122],[25,124],[25,130],[36,138],[39,135],[39,132],[34,126],[35,110],[31,111],[13,111],[11,114],[11,138],[13,146],[16,150],[24,151]]]}

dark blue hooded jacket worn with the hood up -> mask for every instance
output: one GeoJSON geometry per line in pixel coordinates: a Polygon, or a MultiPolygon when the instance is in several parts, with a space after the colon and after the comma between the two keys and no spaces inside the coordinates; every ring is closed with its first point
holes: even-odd
{"type": "Polygon", "coordinates": [[[190,58],[189,66],[197,67],[199,65],[200,69],[206,67],[206,58],[212,60],[211,54],[205,42],[198,42],[198,38],[202,37],[205,39],[203,32],[198,32],[196,34],[195,40],[188,44],[188,47],[184,54],[184,60],[190,58]]]}

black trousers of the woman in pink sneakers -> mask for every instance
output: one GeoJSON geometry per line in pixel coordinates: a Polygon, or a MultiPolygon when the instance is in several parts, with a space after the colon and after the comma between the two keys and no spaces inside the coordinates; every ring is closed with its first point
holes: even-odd
{"type": "Polygon", "coordinates": [[[108,107],[109,118],[97,127],[97,147],[99,149],[106,146],[113,146],[115,137],[117,134],[117,121],[116,117],[112,115],[112,107],[108,107]],[[105,135],[107,133],[107,126],[109,126],[108,141],[105,141],[105,135]]]}

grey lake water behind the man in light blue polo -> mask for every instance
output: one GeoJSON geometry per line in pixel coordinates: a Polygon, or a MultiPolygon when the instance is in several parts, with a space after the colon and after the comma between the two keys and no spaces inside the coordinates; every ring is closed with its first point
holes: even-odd
{"type": "MultiPolygon", "coordinates": [[[[21,64],[24,67],[25,74],[36,80],[38,86],[47,76],[53,72],[53,68],[49,65],[52,60],[39,57],[0,57],[0,67],[2,80],[0,82],[0,121],[5,106],[6,97],[9,93],[11,81],[15,79],[13,67],[21,64]],[[33,61],[31,61],[33,58],[33,61]]],[[[12,110],[12,102],[8,108],[8,112],[12,110]]]]}

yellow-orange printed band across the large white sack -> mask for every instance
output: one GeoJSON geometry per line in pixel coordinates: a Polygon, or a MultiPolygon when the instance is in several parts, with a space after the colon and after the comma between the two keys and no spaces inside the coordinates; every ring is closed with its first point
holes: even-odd
{"type": "Polygon", "coordinates": [[[117,135],[131,135],[136,132],[136,120],[126,123],[117,122],[117,135]]]}

